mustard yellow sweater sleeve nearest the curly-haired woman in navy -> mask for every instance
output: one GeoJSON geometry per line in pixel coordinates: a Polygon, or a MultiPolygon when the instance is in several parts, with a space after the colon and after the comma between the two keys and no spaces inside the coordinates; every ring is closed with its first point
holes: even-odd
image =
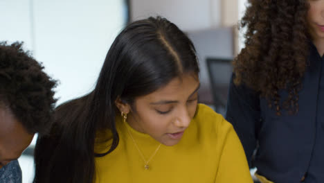
{"type": "Polygon", "coordinates": [[[220,159],[215,183],[253,182],[240,139],[231,125],[222,120],[219,129],[220,159]]]}

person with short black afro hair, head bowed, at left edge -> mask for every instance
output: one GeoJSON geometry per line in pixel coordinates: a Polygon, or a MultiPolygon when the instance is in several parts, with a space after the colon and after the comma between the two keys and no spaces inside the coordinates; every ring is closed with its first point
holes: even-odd
{"type": "Polygon", "coordinates": [[[0,182],[21,182],[17,162],[34,134],[48,133],[56,103],[56,81],[24,51],[0,42],[0,182]]]}

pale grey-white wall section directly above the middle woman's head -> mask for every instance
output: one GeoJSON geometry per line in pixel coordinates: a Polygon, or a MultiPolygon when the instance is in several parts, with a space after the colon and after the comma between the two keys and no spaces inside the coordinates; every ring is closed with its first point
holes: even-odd
{"type": "Polygon", "coordinates": [[[166,17],[186,31],[220,25],[220,0],[130,0],[131,19],[166,17]]]}

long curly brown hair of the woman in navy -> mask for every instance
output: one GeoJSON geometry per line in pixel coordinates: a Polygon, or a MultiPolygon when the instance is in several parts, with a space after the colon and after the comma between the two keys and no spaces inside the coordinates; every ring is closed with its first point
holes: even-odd
{"type": "Polygon", "coordinates": [[[244,83],[267,98],[280,115],[298,112],[298,92],[309,53],[307,0],[249,0],[240,28],[245,48],[233,61],[236,85],[244,83]],[[280,90],[288,92],[287,98],[280,90]]]}

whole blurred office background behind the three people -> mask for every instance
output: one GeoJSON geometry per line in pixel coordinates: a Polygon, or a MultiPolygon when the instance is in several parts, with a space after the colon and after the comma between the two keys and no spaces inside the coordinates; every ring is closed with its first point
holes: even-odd
{"type": "MultiPolygon", "coordinates": [[[[0,0],[0,41],[24,49],[60,80],[57,105],[90,92],[105,55],[129,21],[166,17],[194,42],[201,67],[199,101],[226,112],[231,61],[243,45],[237,24],[246,0],[0,0]]],[[[33,180],[33,143],[19,158],[33,180]]]]}

